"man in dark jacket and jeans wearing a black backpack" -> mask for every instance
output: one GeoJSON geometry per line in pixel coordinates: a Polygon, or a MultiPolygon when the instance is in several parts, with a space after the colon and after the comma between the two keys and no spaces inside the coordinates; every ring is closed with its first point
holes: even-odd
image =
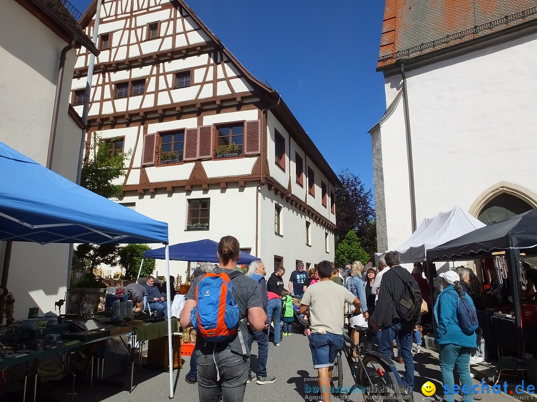
{"type": "Polygon", "coordinates": [[[421,294],[415,306],[409,287],[419,293],[419,286],[410,272],[401,264],[401,258],[395,251],[390,251],[384,257],[386,265],[390,267],[382,277],[379,289],[379,299],[376,302],[375,312],[369,320],[373,329],[382,330],[379,339],[378,351],[391,359],[391,345],[397,339],[401,347],[404,361],[405,375],[401,380],[398,371],[395,370],[395,378],[399,385],[404,385],[403,395],[407,400],[413,400],[414,388],[414,358],[412,356],[412,335],[415,321],[419,316],[421,307],[421,294]],[[410,286],[408,286],[408,285],[410,286]],[[417,314],[414,311],[417,309],[417,314]]]}

